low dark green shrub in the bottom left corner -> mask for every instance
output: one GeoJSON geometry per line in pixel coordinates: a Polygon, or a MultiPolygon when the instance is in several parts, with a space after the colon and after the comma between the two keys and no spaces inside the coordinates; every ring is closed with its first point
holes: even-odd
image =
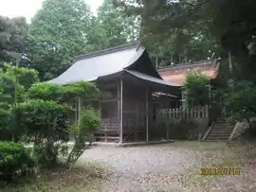
{"type": "Polygon", "coordinates": [[[22,143],[0,142],[1,179],[11,180],[35,166],[31,150],[22,143]]]}

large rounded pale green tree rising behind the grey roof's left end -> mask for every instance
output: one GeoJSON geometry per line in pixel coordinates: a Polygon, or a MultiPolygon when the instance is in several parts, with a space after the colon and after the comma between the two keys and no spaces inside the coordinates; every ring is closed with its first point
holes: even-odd
{"type": "Polygon", "coordinates": [[[92,13],[83,0],[45,0],[27,34],[31,67],[41,79],[62,74],[78,55],[90,50],[86,31],[92,13]]]}

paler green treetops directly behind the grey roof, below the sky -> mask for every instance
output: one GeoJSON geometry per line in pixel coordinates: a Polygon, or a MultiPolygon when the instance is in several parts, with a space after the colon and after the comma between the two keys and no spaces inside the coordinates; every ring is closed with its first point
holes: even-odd
{"type": "Polygon", "coordinates": [[[83,0],[46,0],[27,32],[30,67],[53,79],[79,55],[134,41],[137,23],[105,0],[95,17],[83,0]]]}

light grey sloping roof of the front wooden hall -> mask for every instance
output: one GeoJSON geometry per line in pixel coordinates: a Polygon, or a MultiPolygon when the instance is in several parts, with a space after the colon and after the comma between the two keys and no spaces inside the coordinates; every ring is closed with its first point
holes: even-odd
{"type": "MultiPolygon", "coordinates": [[[[144,47],[134,43],[85,54],[77,57],[71,67],[58,78],[51,79],[49,82],[63,85],[80,80],[92,81],[125,72],[139,79],[155,81],[155,83],[167,86],[176,86],[174,83],[166,82],[160,77],[157,79],[136,71],[126,71],[126,69],[134,66],[144,52],[144,47]]],[[[157,74],[157,72],[155,73],[157,74]]]]}

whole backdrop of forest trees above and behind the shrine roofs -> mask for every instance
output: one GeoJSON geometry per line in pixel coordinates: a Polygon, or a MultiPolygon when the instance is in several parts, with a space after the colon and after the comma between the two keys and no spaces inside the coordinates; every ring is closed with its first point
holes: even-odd
{"type": "Polygon", "coordinates": [[[254,80],[254,10],[252,0],[104,0],[94,16],[82,0],[46,0],[29,26],[1,17],[0,59],[26,52],[46,80],[80,54],[139,39],[157,64],[226,60],[230,53],[235,77],[254,80]]]}

